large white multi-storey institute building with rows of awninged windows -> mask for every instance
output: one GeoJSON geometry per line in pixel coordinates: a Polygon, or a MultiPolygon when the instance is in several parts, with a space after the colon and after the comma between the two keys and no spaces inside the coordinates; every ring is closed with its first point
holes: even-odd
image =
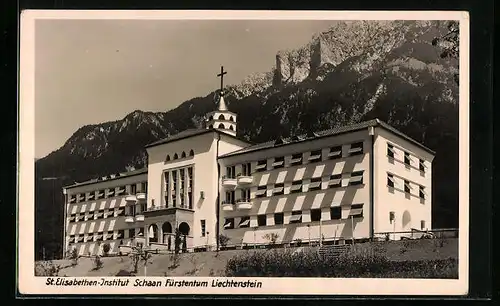
{"type": "MultiPolygon", "coordinates": [[[[206,127],[149,144],[147,169],[63,189],[65,251],[111,253],[141,237],[189,250],[362,240],[432,228],[434,152],[380,120],[261,144],[236,137],[221,91],[206,127]]],[[[392,237],[397,237],[393,235],[392,237]]]]}

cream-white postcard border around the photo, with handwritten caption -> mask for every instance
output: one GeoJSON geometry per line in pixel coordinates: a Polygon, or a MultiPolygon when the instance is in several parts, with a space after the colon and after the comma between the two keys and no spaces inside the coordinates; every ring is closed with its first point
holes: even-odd
{"type": "MultiPolygon", "coordinates": [[[[286,294],[286,295],[465,295],[469,277],[469,188],[459,195],[459,279],[339,279],[242,278],[260,280],[262,288],[192,287],[62,287],[46,286],[46,277],[34,276],[34,35],[36,19],[145,19],[145,20],[459,20],[459,184],[469,186],[469,14],[459,11],[81,11],[25,10],[20,20],[20,87],[18,138],[18,289],[22,294],[286,294]],[[132,290],[131,290],[132,289],[132,290]]],[[[84,279],[77,278],[77,279],[84,279]]],[[[101,279],[85,277],[92,280],[101,279]]],[[[115,279],[110,277],[108,279],[115,279]]],[[[135,278],[131,278],[131,283],[135,278]]],[[[148,277],[165,280],[164,277],[148,277]]],[[[176,280],[224,280],[224,277],[177,277],[176,280]]],[[[236,280],[235,278],[233,278],[236,280]]]]}

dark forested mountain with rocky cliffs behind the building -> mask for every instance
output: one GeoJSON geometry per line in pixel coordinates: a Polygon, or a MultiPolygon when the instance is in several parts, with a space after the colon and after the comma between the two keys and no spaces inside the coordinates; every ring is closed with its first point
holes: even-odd
{"type": "MultiPolygon", "coordinates": [[[[437,21],[339,22],[301,48],[280,51],[270,71],[227,87],[227,105],[239,115],[238,135],[264,142],[379,118],[437,152],[434,227],[456,227],[458,62],[441,58],[431,44],[445,31],[437,21]]],[[[42,246],[48,257],[60,256],[63,185],[143,167],[146,144],[201,127],[216,100],[211,92],[168,112],[136,110],[84,126],[37,160],[37,258],[42,246]]]]}

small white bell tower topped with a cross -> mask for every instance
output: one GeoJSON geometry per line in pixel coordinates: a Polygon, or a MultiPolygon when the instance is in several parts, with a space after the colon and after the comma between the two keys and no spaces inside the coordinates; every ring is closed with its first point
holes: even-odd
{"type": "Polygon", "coordinates": [[[224,71],[224,67],[221,66],[220,73],[217,74],[217,77],[220,77],[219,103],[217,104],[217,110],[206,115],[206,127],[207,129],[217,129],[236,136],[236,114],[227,109],[226,102],[224,101],[225,74],[227,74],[227,71],[224,71]]]}

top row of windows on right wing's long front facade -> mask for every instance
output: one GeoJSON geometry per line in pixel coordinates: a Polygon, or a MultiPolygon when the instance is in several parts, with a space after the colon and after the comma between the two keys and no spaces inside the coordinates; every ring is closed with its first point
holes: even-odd
{"type": "MultiPolygon", "coordinates": [[[[239,175],[251,175],[253,172],[263,172],[271,169],[280,169],[284,167],[291,166],[299,166],[305,164],[304,155],[306,152],[296,153],[291,155],[291,159],[288,161],[288,164],[285,163],[285,156],[275,157],[272,160],[270,167],[268,167],[268,160],[262,159],[257,161],[255,169],[251,168],[251,163],[242,164],[241,173],[236,174],[236,166],[228,166],[226,167],[226,178],[236,178],[239,175]]],[[[349,150],[347,151],[346,156],[355,156],[363,154],[363,142],[356,142],[350,145],[349,150]]],[[[325,151],[322,149],[311,151],[309,157],[307,158],[307,162],[315,163],[323,160],[332,160],[342,158],[342,146],[334,146],[330,147],[329,150],[325,151]],[[326,156],[324,156],[326,155],[326,156]]]]}

